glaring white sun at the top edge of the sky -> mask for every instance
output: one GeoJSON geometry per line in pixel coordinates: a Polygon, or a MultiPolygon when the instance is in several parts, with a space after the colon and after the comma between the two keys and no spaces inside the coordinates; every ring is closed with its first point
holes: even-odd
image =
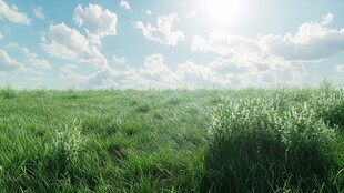
{"type": "Polygon", "coordinates": [[[244,14],[243,0],[202,0],[202,10],[216,27],[231,26],[244,14]]]}

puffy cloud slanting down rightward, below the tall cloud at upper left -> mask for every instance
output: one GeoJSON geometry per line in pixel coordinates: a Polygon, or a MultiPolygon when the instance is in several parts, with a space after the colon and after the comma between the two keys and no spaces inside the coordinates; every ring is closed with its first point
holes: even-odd
{"type": "Polygon", "coordinates": [[[64,23],[50,26],[47,35],[51,41],[48,42],[45,38],[42,38],[41,47],[52,57],[79,63],[91,63],[95,67],[108,64],[107,59],[95,45],[90,44],[79,31],[64,23]]]}

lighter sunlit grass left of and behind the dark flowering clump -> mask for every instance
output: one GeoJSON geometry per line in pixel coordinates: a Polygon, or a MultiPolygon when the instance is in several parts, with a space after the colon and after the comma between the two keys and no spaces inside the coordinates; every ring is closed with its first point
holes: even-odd
{"type": "MultiPolygon", "coordinates": [[[[221,98],[282,91],[2,92],[13,93],[0,96],[1,190],[200,192],[206,130],[221,98]],[[69,132],[73,125],[80,135],[69,132]],[[51,151],[57,131],[75,149],[51,151]]],[[[300,104],[310,93],[285,92],[283,101],[300,104]]],[[[344,152],[336,153],[344,165],[344,152]]]]}

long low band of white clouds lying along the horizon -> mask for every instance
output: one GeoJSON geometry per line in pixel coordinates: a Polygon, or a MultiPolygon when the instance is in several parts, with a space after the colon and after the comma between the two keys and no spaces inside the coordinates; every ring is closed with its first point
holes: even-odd
{"type": "Polygon", "coordinates": [[[144,58],[142,68],[128,67],[118,71],[107,67],[88,75],[77,73],[75,65],[64,67],[61,71],[63,78],[80,82],[85,88],[115,87],[121,89],[240,88],[282,81],[279,78],[281,74],[289,75],[283,81],[294,81],[303,73],[303,69],[297,69],[287,62],[281,64],[281,61],[276,59],[273,61],[271,58],[266,58],[264,63],[269,65],[267,68],[260,68],[264,64],[254,63],[254,60],[252,59],[250,62],[249,59],[216,58],[210,63],[196,63],[188,60],[172,69],[163,55],[151,54],[144,58]],[[281,67],[277,67],[277,63],[281,67]]]}

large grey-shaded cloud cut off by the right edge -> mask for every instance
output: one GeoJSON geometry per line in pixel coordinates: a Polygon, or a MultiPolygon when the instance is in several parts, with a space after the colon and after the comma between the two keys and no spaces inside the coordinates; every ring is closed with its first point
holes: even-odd
{"type": "Polygon", "coordinates": [[[269,52],[286,60],[320,60],[344,50],[344,29],[332,29],[327,24],[333,14],[327,14],[320,23],[306,22],[296,34],[265,35],[262,44],[269,52]]]}

